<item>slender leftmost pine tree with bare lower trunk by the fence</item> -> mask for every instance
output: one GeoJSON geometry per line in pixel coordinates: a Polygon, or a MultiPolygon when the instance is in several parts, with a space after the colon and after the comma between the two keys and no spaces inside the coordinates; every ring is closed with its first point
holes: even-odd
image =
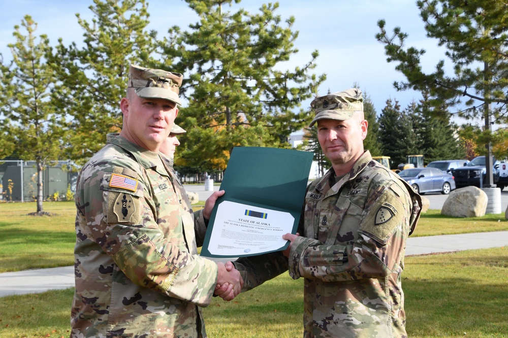
{"type": "Polygon", "coordinates": [[[36,42],[37,23],[29,15],[21,26],[26,35],[19,25],[14,27],[16,42],[8,45],[13,59],[9,65],[2,64],[0,71],[0,114],[6,118],[0,124],[0,134],[8,135],[0,145],[5,147],[4,156],[15,149],[20,159],[36,161],[37,214],[43,214],[43,170],[58,160],[69,128],[51,96],[60,83],[48,61],[52,54],[49,39],[43,34],[36,42]]]}

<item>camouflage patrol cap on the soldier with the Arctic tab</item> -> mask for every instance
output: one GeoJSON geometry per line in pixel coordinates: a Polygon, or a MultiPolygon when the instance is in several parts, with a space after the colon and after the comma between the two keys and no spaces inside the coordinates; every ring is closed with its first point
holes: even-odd
{"type": "Polygon", "coordinates": [[[356,111],[363,111],[362,91],[351,88],[316,97],[310,103],[310,107],[315,110],[316,115],[309,127],[322,119],[348,120],[356,111]]]}

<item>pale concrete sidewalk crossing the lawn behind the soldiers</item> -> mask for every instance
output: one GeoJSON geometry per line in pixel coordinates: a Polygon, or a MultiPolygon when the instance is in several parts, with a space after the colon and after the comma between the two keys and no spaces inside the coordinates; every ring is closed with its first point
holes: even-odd
{"type": "MultiPolygon", "coordinates": [[[[406,256],[508,246],[508,231],[407,239],[406,256]]],[[[0,274],[0,297],[74,287],[74,266],[0,274]]]]}

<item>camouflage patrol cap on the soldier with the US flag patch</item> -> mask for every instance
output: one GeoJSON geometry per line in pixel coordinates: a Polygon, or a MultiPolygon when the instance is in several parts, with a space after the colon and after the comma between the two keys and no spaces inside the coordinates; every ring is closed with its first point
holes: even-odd
{"type": "Polygon", "coordinates": [[[162,69],[149,69],[131,64],[128,87],[142,98],[163,98],[181,105],[178,97],[183,75],[162,69]]]}

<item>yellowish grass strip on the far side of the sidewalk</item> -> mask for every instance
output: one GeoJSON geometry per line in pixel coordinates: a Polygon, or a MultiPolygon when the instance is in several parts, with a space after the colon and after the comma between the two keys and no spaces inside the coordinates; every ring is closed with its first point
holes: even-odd
{"type": "MultiPolygon", "coordinates": [[[[204,201],[193,205],[203,208],[204,201]]],[[[74,264],[74,202],[44,202],[52,216],[28,216],[36,202],[0,203],[0,273],[74,264]]],[[[503,214],[453,218],[439,210],[422,214],[412,236],[508,230],[503,214]]]]}

